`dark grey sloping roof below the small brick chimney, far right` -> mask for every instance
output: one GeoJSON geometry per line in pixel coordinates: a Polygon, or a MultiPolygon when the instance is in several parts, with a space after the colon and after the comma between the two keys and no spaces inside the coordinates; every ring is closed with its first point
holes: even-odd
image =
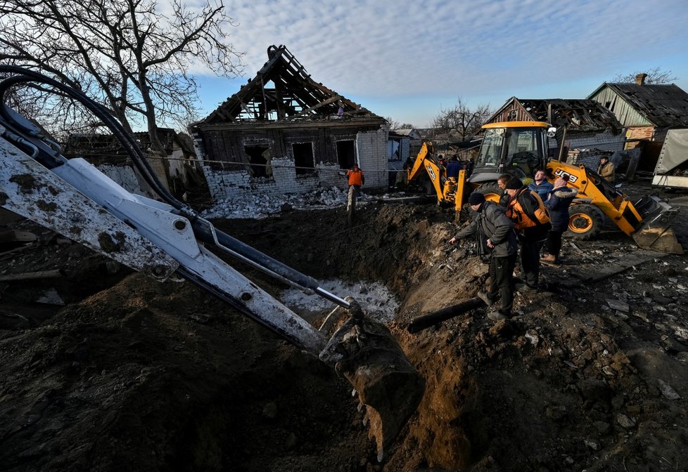
{"type": "MultiPolygon", "coordinates": [[[[639,85],[605,82],[588,98],[601,103],[602,100],[597,97],[604,93],[604,89],[610,89],[618,94],[654,126],[688,126],[688,93],[676,84],[639,85]]],[[[623,122],[623,119],[620,121],[623,122]]]]}

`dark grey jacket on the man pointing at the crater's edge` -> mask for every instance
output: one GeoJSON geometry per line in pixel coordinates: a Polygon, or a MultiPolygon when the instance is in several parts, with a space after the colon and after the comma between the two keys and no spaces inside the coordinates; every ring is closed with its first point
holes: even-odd
{"type": "Polygon", "coordinates": [[[478,255],[480,256],[487,256],[490,253],[494,257],[507,257],[518,251],[514,223],[511,223],[504,208],[495,202],[485,202],[480,205],[476,218],[455,237],[461,240],[472,235],[478,237],[478,255]],[[488,239],[495,245],[491,250],[485,244],[488,239]]]}

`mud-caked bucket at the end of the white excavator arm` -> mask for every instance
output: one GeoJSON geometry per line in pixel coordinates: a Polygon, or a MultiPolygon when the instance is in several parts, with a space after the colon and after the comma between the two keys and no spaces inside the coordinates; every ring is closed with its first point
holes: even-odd
{"type": "Polygon", "coordinates": [[[351,317],[336,330],[320,358],[334,362],[367,406],[368,436],[375,440],[382,461],[421,402],[425,380],[389,330],[365,315],[356,301],[347,300],[351,317]]]}

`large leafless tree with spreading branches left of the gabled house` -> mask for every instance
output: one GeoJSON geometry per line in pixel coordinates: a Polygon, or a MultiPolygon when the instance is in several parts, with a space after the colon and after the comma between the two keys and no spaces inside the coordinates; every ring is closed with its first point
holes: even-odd
{"type": "MultiPolygon", "coordinates": [[[[234,51],[227,34],[233,20],[212,1],[191,10],[171,0],[163,14],[156,0],[0,0],[0,63],[81,90],[129,132],[145,125],[160,152],[158,123],[184,122],[198,110],[192,67],[226,77],[241,72],[243,53],[234,51]]],[[[41,97],[40,90],[31,92],[30,112],[60,112],[64,127],[98,125],[84,122],[65,98],[41,97]]]]}

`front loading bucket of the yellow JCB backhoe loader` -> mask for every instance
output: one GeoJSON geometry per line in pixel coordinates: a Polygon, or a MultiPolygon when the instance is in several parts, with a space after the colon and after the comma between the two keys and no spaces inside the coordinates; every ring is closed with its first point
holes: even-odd
{"type": "Polygon", "coordinates": [[[658,197],[642,197],[635,209],[642,216],[637,230],[632,233],[638,247],[668,254],[683,254],[683,247],[676,239],[672,225],[678,209],[658,197]]]}

